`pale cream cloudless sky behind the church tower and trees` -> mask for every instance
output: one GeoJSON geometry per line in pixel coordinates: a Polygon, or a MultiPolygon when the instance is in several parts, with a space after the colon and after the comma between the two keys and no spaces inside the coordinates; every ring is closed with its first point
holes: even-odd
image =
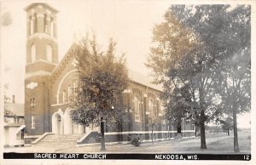
{"type": "MultiPolygon", "coordinates": [[[[99,48],[106,48],[113,37],[116,54],[125,53],[130,69],[148,75],[144,65],[149,54],[154,25],[162,22],[170,1],[154,0],[66,0],[44,1],[57,14],[59,60],[72,43],[87,32],[94,31],[99,48]]],[[[15,95],[16,102],[24,102],[26,65],[26,12],[32,1],[3,1],[2,14],[9,13],[11,24],[1,28],[1,54],[5,71],[3,83],[9,83],[7,94],[15,95]]],[[[238,118],[241,127],[248,127],[249,115],[238,118]],[[247,121],[246,123],[244,121],[247,121]]]]}

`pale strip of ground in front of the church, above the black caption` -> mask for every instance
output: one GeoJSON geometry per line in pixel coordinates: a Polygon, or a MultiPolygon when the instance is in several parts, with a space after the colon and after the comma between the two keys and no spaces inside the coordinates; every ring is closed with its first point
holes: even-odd
{"type": "MultiPolygon", "coordinates": [[[[200,137],[192,139],[169,139],[165,141],[145,142],[140,146],[131,144],[106,145],[107,151],[103,153],[233,153],[233,136],[207,137],[207,150],[201,149],[200,137]]],[[[247,139],[247,135],[239,137],[239,145],[241,153],[250,153],[251,140],[247,139]]],[[[5,148],[5,152],[44,152],[44,153],[102,153],[100,145],[74,147],[68,149],[20,147],[5,148]]]]}

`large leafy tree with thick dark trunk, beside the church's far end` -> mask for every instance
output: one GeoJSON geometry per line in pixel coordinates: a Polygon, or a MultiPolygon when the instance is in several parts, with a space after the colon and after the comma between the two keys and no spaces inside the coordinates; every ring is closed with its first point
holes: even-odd
{"type": "Polygon", "coordinates": [[[201,148],[206,149],[205,122],[219,113],[216,101],[219,96],[212,81],[214,57],[200,38],[177,20],[171,9],[166,12],[165,20],[154,27],[154,46],[146,65],[153,70],[155,83],[164,84],[162,97],[167,102],[167,113],[199,117],[201,148]],[[181,101],[183,107],[178,107],[181,105],[175,100],[181,101]]]}

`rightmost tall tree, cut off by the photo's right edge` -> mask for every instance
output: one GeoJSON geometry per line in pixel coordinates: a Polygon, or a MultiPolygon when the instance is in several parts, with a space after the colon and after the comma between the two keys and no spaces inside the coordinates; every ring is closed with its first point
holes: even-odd
{"type": "Polygon", "coordinates": [[[216,88],[233,116],[234,151],[239,151],[236,114],[250,111],[250,5],[177,5],[173,13],[207,46],[216,65],[216,88]]]}

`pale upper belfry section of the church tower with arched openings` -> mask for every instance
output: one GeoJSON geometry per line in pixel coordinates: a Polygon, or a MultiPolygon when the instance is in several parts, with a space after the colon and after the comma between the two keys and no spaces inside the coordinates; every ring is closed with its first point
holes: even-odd
{"type": "MultiPolygon", "coordinates": [[[[46,3],[32,3],[25,10],[27,20],[26,65],[38,61],[51,65],[57,64],[56,14],[58,11],[46,3]]],[[[53,67],[49,66],[52,69],[53,67]]],[[[31,67],[29,70],[31,70],[31,67]]],[[[37,69],[33,68],[32,70],[37,69]]]]}

